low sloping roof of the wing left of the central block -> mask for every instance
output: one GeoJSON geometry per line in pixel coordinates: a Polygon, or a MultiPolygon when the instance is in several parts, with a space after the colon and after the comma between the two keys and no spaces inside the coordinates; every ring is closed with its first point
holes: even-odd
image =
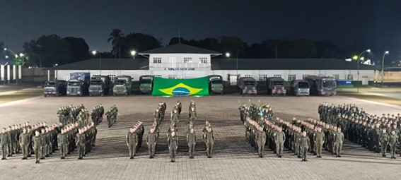
{"type": "MultiPolygon", "coordinates": [[[[149,59],[102,59],[102,70],[149,70],[149,59]]],[[[54,70],[99,70],[100,59],[87,59],[50,68],[54,70]]]]}

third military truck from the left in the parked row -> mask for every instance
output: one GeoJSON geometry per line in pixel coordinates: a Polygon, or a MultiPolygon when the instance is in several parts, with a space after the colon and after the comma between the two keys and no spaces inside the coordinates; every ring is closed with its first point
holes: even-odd
{"type": "Polygon", "coordinates": [[[109,76],[93,76],[89,85],[89,95],[105,96],[109,94],[110,77],[109,76]]]}

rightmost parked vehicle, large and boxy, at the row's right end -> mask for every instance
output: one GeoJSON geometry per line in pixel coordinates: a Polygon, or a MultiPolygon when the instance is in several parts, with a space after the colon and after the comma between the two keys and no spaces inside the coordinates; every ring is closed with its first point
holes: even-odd
{"type": "Polygon", "coordinates": [[[305,78],[310,86],[310,95],[337,95],[335,78],[307,76],[305,78]]]}

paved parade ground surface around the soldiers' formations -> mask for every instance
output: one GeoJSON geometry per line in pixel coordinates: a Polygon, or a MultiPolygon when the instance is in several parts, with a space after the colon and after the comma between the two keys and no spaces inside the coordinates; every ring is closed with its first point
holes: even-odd
{"type": "MultiPolygon", "coordinates": [[[[322,159],[310,156],[301,162],[288,154],[277,158],[268,151],[260,159],[245,143],[245,130],[239,120],[238,101],[269,102],[275,116],[290,119],[292,116],[317,117],[319,102],[356,103],[371,114],[397,113],[401,107],[372,104],[349,97],[238,97],[237,95],[193,97],[197,102],[196,122],[197,152],[189,159],[185,130],[187,119],[179,124],[180,147],[178,160],[169,162],[166,146],[168,121],[161,124],[161,136],[156,147],[156,158],[149,159],[147,148],[142,147],[134,160],[129,160],[124,136],[136,121],[144,121],[146,133],[151,125],[152,113],[159,101],[167,102],[168,110],[177,100],[183,103],[182,116],[187,116],[190,97],[34,97],[18,103],[0,106],[0,127],[29,120],[31,124],[57,122],[56,112],[62,105],[83,103],[88,109],[102,103],[105,108],[116,104],[119,108],[117,122],[112,128],[102,123],[98,126],[98,140],[84,160],[77,160],[73,152],[66,160],[59,159],[59,152],[40,164],[35,160],[21,160],[21,155],[0,162],[0,179],[400,179],[401,158],[391,160],[345,143],[342,158],[325,152],[322,159]],[[202,143],[202,126],[209,120],[214,126],[216,143],[214,158],[207,159],[202,143]]],[[[146,134],[145,133],[145,134],[146,134]]]]}

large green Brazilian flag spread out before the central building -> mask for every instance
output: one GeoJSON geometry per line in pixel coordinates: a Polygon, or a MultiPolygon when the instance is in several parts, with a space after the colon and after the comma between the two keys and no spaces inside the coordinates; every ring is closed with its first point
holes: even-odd
{"type": "Polygon", "coordinates": [[[209,77],[192,79],[153,78],[153,96],[209,95],[209,77]]]}

